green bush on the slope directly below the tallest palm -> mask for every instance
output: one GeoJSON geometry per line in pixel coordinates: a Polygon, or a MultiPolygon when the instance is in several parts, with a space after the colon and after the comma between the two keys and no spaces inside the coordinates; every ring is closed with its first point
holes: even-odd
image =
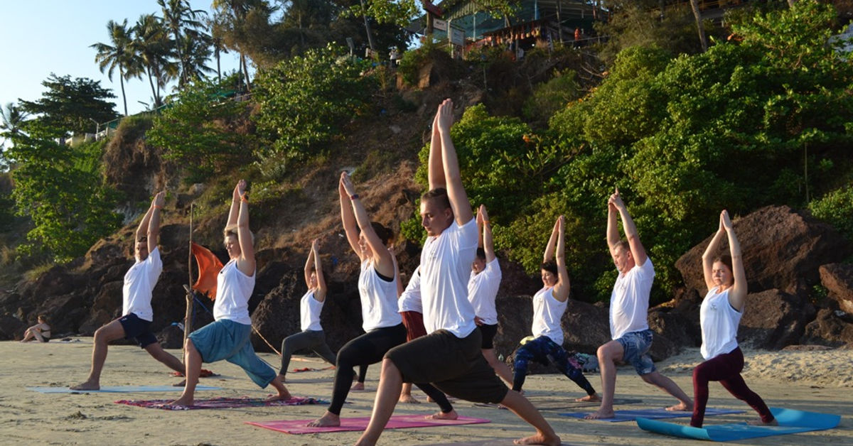
{"type": "Polygon", "coordinates": [[[203,181],[251,159],[252,137],[236,131],[246,113],[246,104],[224,97],[219,84],[198,81],[154,118],[148,142],[186,166],[187,182],[203,181]]]}

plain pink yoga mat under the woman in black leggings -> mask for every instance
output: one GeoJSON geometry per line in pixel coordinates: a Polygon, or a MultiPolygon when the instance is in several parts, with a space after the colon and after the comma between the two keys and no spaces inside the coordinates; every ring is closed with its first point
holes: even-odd
{"type": "MultiPolygon", "coordinates": [[[[416,415],[394,415],[388,420],[386,429],[403,429],[405,427],[432,427],[432,426],[456,426],[476,425],[479,423],[490,423],[490,420],[482,418],[471,418],[461,416],[458,420],[427,420],[425,414],[416,415]]],[[[264,427],[273,431],[300,434],[320,432],[345,432],[363,431],[367,428],[370,417],[341,418],[340,426],[334,427],[309,427],[306,426],[313,420],[281,420],[281,421],[246,421],[247,425],[264,427]]]]}

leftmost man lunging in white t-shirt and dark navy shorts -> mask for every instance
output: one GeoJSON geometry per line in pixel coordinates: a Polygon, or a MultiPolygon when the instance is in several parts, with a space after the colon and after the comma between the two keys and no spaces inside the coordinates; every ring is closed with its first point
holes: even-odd
{"type": "Polygon", "coordinates": [[[148,351],[157,361],[166,367],[183,373],[183,364],[177,357],[163,350],[154,333],[151,333],[151,322],[154,321],[154,311],[151,310],[151,297],[154,285],[163,270],[160,260],[160,248],[157,239],[160,237],[160,210],[165,205],[165,192],[159,192],[151,200],[151,206],[142,217],[142,222],[136,228],[136,244],[134,258],[136,263],[125,274],[123,316],[95,332],[92,342],[92,367],[89,378],[83,383],[73,385],[75,391],[96,391],[101,388],[101,372],[107,361],[107,345],[116,339],[134,339],[136,344],[148,351]]]}

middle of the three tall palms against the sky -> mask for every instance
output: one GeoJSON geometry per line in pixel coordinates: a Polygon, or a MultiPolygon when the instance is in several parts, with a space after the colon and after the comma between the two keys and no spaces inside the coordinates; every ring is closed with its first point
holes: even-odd
{"type": "Polygon", "coordinates": [[[154,14],[142,14],[133,26],[133,51],[142,59],[142,65],[148,75],[151,94],[154,98],[153,108],[163,104],[160,88],[165,86],[166,72],[172,56],[175,54],[174,43],[169,39],[169,32],[160,17],[154,14]],[[157,79],[156,89],[154,79],[157,79]]]}

